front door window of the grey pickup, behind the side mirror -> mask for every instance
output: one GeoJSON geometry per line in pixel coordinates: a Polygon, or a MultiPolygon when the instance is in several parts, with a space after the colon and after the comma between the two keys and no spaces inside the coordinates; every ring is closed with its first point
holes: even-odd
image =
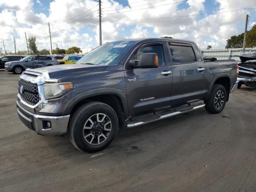
{"type": "Polygon", "coordinates": [[[164,48],[162,45],[150,45],[141,48],[138,50],[136,54],[136,62],[138,66],[140,66],[140,58],[141,55],[144,53],[156,53],[158,56],[158,64],[159,65],[165,65],[165,59],[164,59],[164,48]]]}

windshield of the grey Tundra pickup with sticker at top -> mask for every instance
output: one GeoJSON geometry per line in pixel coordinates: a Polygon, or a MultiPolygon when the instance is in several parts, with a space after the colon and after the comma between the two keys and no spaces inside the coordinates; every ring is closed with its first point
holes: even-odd
{"type": "Polygon", "coordinates": [[[76,64],[115,65],[136,41],[106,43],[82,57],[76,64]]]}

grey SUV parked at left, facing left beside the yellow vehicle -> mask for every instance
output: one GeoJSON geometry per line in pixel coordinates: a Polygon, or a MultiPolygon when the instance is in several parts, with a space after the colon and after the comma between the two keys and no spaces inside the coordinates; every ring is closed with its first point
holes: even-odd
{"type": "Polygon", "coordinates": [[[20,61],[10,61],[5,63],[5,70],[13,72],[15,74],[21,74],[27,68],[39,68],[45,66],[57,65],[58,60],[53,56],[43,56],[43,55],[30,55],[26,56],[20,61]]]}

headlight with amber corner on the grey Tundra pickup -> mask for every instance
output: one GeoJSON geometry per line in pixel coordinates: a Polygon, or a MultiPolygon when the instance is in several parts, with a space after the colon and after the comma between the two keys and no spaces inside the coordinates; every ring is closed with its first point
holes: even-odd
{"type": "Polygon", "coordinates": [[[64,95],[70,89],[73,88],[72,82],[60,82],[60,83],[46,83],[43,85],[44,98],[54,99],[64,95]]]}

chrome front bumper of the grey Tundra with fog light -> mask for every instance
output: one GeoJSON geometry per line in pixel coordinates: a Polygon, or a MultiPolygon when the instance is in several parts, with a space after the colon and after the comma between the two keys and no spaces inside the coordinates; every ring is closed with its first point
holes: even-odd
{"type": "Polygon", "coordinates": [[[65,116],[45,116],[40,114],[34,114],[25,110],[20,106],[18,101],[17,112],[18,117],[31,130],[34,130],[40,135],[44,136],[60,136],[65,134],[68,129],[68,120],[70,115],[65,116]],[[50,127],[48,126],[48,122],[50,127]]]}

